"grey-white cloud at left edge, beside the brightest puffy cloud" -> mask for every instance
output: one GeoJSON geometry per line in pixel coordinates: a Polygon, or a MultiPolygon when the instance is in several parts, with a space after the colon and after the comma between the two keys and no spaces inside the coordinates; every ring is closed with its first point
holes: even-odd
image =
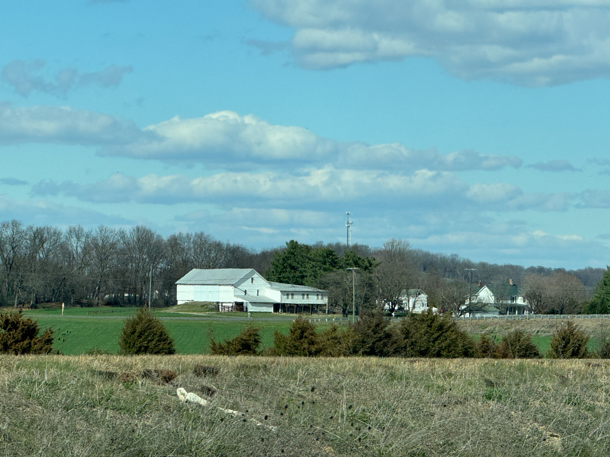
{"type": "MultiPolygon", "coordinates": [[[[148,133],[150,134],[150,133],[148,133]]],[[[0,103],[0,144],[125,144],[146,133],[133,122],[69,107],[13,108],[0,103]]]]}

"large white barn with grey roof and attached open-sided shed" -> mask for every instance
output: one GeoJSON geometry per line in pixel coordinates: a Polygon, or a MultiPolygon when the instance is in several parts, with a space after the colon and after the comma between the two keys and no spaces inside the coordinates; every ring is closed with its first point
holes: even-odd
{"type": "Polygon", "coordinates": [[[328,312],[328,291],[268,282],[253,269],[193,269],[176,282],[178,305],[213,302],[219,311],[328,312]]]}

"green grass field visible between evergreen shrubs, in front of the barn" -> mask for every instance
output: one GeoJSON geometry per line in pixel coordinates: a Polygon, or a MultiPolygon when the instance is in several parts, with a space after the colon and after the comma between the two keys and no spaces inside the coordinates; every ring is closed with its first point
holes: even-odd
{"type": "MultiPolygon", "coordinates": [[[[10,311],[12,308],[2,310],[10,311]]],[[[118,351],[118,336],[123,321],[132,316],[137,308],[112,308],[100,306],[96,308],[65,308],[61,316],[61,308],[25,310],[26,316],[38,321],[42,328],[53,327],[56,330],[54,348],[65,355],[86,353],[93,347],[111,353],[118,351]],[[59,339],[58,339],[59,338],[59,339]]],[[[294,314],[253,313],[252,319],[247,319],[247,313],[210,313],[199,308],[199,305],[181,305],[173,308],[154,310],[154,314],[162,319],[170,335],[174,338],[176,350],[181,354],[206,353],[209,347],[207,330],[213,330],[216,341],[234,338],[248,322],[260,327],[262,347],[273,344],[275,330],[287,333],[294,314]]],[[[305,317],[309,317],[307,314],[305,317]]],[[[314,316],[315,317],[315,316],[314,316]]],[[[498,321],[487,319],[481,321],[458,321],[463,330],[477,339],[481,333],[496,336],[498,341],[514,328],[520,328],[533,335],[532,341],[545,354],[550,347],[553,328],[562,321],[498,321]]],[[[577,321],[591,335],[599,325],[608,325],[606,319],[581,319],[577,321]]],[[[320,330],[326,328],[326,323],[319,324],[320,330]]],[[[597,342],[592,336],[588,344],[589,350],[597,349],[597,342]]]]}

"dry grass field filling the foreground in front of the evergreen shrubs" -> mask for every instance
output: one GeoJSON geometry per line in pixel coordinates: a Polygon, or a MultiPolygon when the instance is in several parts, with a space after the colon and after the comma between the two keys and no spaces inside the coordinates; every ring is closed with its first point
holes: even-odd
{"type": "Polygon", "coordinates": [[[0,356],[0,455],[601,457],[609,376],[600,360],[0,356]]]}

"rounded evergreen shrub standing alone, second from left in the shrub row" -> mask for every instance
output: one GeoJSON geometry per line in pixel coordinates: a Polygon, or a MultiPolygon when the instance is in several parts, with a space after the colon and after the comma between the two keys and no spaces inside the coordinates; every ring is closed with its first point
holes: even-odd
{"type": "Polygon", "coordinates": [[[119,352],[125,355],[176,353],[174,339],[165,325],[146,308],[138,309],[134,317],[125,319],[118,345],[119,352]]]}

